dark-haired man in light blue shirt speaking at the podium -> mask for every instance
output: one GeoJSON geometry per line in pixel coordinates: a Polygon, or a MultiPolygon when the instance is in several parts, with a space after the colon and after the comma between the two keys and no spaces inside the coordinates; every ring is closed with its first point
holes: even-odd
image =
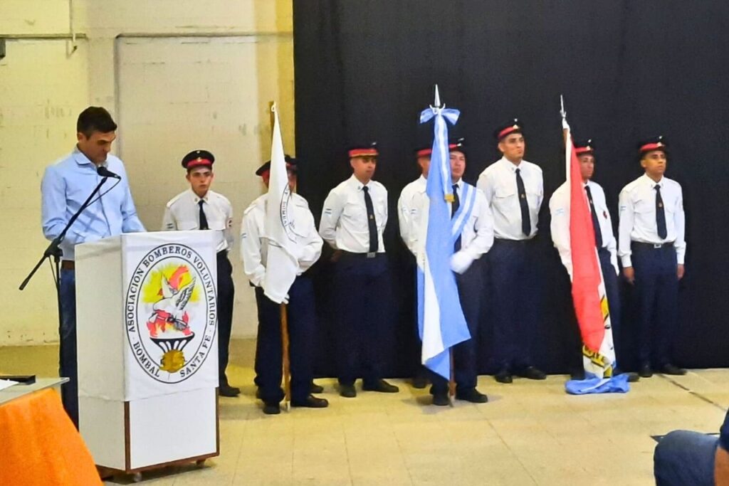
{"type": "Polygon", "coordinates": [[[137,217],[124,164],[109,154],[117,124],[109,111],[89,106],[76,124],[78,143],[71,154],[49,165],[41,184],[43,234],[48,240],[61,235],[71,217],[104,177],[115,179],[71,225],[61,242],[61,340],[59,374],[69,377],[62,385],[63,407],[79,425],[76,361],[76,276],[74,247],[124,232],[145,231],[137,217]],[[104,176],[99,168],[105,168],[104,176]]]}

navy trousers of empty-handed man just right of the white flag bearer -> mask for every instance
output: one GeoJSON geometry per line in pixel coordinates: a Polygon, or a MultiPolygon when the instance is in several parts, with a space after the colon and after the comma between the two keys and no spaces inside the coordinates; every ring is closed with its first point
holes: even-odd
{"type": "Polygon", "coordinates": [[[344,252],[335,264],[338,377],[352,385],[362,377],[382,377],[381,350],[389,319],[390,280],[387,255],[344,252]]]}

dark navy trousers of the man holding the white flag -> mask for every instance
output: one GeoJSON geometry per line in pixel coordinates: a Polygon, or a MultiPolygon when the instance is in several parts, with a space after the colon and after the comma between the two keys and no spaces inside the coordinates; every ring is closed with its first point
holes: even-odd
{"type": "MultiPolygon", "coordinates": [[[[281,348],[281,305],[276,304],[256,287],[258,305],[258,342],[256,346],[257,382],[260,398],[266,404],[284,399],[281,388],[283,350],[281,348]]],[[[313,285],[304,276],[296,278],[289,289],[286,305],[289,324],[289,363],[291,399],[304,401],[310,393],[312,379],[311,350],[316,326],[313,285]]]]}

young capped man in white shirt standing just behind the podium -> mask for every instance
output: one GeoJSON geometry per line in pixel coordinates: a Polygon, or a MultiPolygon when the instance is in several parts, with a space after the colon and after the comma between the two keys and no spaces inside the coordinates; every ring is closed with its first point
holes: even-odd
{"type": "Polygon", "coordinates": [[[233,326],[233,267],[227,257],[233,248],[233,207],[224,195],[210,189],[215,178],[215,157],[207,150],[193,150],[182,159],[190,189],[173,197],[165,208],[163,231],[214,230],[217,238],[218,283],[218,375],[221,396],[238,396],[239,388],[228,384],[230,331],[233,326]]]}

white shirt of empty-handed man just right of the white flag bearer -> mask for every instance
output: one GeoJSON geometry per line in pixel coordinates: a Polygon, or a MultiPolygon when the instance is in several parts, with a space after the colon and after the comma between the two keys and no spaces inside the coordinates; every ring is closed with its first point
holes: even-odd
{"type": "MultiPolygon", "coordinates": [[[[354,174],[332,189],[324,200],[319,235],[332,248],[351,253],[370,251],[370,227],[364,205],[364,184],[354,174]]],[[[367,183],[377,223],[378,253],[384,253],[382,232],[387,224],[387,189],[378,181],[367,183]]]]}

